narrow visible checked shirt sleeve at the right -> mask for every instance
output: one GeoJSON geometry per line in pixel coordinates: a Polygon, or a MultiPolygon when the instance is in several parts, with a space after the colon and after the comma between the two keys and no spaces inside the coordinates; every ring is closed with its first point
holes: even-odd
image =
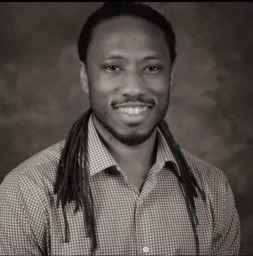
{"type": "Polygon", "coordinates": [[[222,209],[219,232],[213,238],[211,255],[238,255],[240,246],[240,221],[235,208],[234,196],[226,180],[226,197],[222,209]]]}

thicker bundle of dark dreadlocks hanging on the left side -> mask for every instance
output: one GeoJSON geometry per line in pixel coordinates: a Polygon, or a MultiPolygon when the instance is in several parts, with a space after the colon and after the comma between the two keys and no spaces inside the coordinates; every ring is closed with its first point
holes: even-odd
{"type": "Polygon", "coordinates": [[[87,237],[91,237],[91,251],[93,254],[97,241],[93,199],[87,170],[88,121],[91,113],[91,109],[88,109],[70,129],[57,167],[54,193],[57,193],[57,208],[60,202],[62,206],[65,226],[64,242],[68,242],[68,223],[64,207],[67,201],[75,201],[75,212],[82,206],[83,222],[87,237]]]}

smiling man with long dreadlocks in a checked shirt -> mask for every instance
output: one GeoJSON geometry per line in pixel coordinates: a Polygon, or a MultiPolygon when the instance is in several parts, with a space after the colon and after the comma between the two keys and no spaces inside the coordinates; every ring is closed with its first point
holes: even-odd
{"type": "Polygon", "coordinates": [[[91,109],[66,141],[6,176],[1,254],[238,254],[225,175],[182,150],[163,119],[170,23],[141,4],[107,3],[83,26],[78,53],[91,109]]]}

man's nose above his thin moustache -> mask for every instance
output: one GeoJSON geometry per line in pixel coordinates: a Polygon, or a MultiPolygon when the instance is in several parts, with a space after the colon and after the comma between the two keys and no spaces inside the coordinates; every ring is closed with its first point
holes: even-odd
{"type": "Polygon", "coordinates": [[[124,74],[120,92],[123,95],[135,97],[140,94],[146,93],[145,82],[140,73],[136,71],[124,74]]]}

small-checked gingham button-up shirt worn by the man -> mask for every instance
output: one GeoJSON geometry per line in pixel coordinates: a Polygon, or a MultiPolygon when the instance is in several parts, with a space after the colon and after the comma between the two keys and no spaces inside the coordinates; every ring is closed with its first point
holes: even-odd
{"type": "MultiPolygon", "coordinates": [[[[141,194],[120,169],[89,121],[88,167],[98,247],[95,255],[193,255],[192,227],[175,159],[160,131],[156,164],[141,194]],[[175,170],[175,171],[174,171],[175,170]]],[[[0,186],[1,255],[87,255],[83,213],[66,207],[69,242],[64,243],[61,207],[53,184],[64,141],[34,155],[0,186]]],[[[222,171],[185,150],[207,200],[196,199],[200,255],[236,255],[240,226],[234,198],[222,171]]]]}

